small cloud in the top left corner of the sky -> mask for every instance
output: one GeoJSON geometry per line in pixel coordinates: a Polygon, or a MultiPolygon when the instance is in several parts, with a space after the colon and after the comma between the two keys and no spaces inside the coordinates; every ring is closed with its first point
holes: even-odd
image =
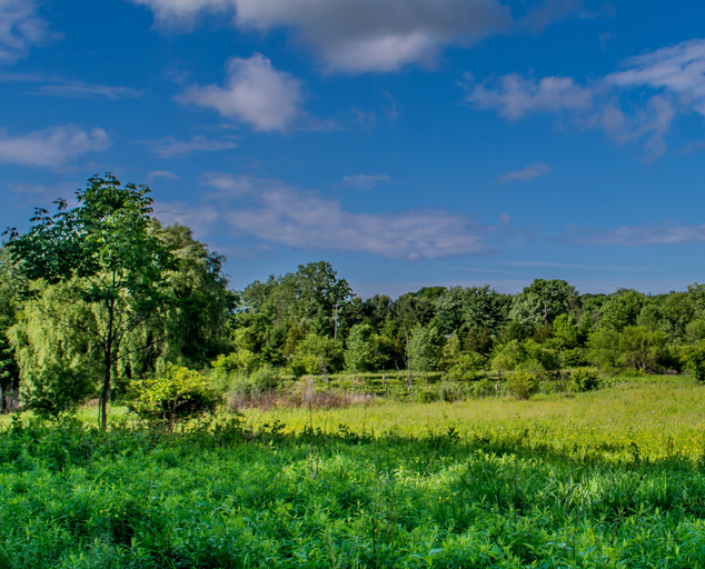
{"type": "Polygon", "coordinates": [[[0,63],[23,58],[32,46],[56,37],[37,16],[33,0],[0,0],[0,63]]]}

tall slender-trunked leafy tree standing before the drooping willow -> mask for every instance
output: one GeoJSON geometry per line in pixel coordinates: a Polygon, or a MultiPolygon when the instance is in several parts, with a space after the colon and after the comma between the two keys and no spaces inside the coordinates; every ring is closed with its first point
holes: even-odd
{"type": "MultiPolygon", "coordinates": [[[[76,208],[69,209],[64,200],[58,200],[53,216],[46,209],[36,210],[26,233],[10,230],[8,248],[21,261],[29,280],[69,286],[91,309],[87,312],[90,317],[67,318],[61,309],[52,308],[61,305],[36,305],[56,325],[80,330],[98,347],[102,360],[102,429],[122,341],[149,326],[173,302],[162,279],[175,267],[175,259],[151,223],[149,193],[146,186],[122,187],[111,173],[95,176],[86,189],[76,191],[76,208]]],[[[131,350],[148,349],[156,341],[150,337],[131,350]]]]}

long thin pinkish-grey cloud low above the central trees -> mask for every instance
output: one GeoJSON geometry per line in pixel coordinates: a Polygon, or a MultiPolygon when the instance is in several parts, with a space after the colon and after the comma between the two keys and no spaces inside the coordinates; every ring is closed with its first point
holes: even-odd
{"type": "Polygon", "coordinates": [[[355,213],[315,191],[229,174],[207,176],[202,184],[212,191],[203,196],[200,209],[217,214],[230,232],[260,243],[408,260],[494,251],[487,240],[496,228],[449,211],[355,213]]]}

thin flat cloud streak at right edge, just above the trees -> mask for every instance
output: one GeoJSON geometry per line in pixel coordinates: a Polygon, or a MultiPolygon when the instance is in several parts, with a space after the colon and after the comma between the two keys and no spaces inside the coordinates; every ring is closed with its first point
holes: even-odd
{"type": "Polygon", "coordinates": [[[649,244],[699,243],[705,241],[705,223],[681,226],[624,226],[618,229],[602,230],[569,226],[555,238],[557,241],[585,246],[641,247],[649,244]]]}

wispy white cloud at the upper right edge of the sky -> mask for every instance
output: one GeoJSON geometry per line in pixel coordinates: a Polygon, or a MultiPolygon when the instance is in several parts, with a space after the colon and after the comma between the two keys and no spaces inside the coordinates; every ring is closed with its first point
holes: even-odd
{"type": "Polygon", "coordinates": [[[665,136],[679,113],[705,116],[705,40],[628,58],[622,68],[590,86],[573,78],[536,81],[518,73],[483,82],[468,77],[465,102],[476,109],[494,109],[507,120],[532,112],[569,111],[578,127],[602,129],[617,143],[643,140],[644,158],[654,160],[666,151],[665,136]],[[641,107],[629,106],[634,110],[627,116],[620,97],[637,88],[656,93],[641,107]]]}

